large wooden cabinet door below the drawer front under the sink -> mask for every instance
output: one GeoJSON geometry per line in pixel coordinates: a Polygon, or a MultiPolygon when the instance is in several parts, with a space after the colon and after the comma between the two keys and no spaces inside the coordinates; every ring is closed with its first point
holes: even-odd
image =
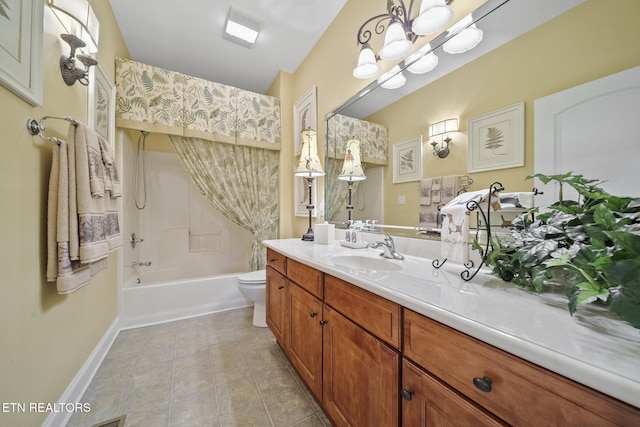
{"type": "Polygon", "coordinates": [[[337,426],[398,425],[400,356],[324,306],[323,399],[337,426]]]}

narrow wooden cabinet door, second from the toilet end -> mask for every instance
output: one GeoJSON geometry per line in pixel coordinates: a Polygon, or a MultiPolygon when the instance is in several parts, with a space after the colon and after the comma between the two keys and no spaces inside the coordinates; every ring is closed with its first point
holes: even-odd
{"type": "Polygon", "coordinates": [[[322,399],[322,301],[289,282],[287,355],[317,399],[322,399]]]}

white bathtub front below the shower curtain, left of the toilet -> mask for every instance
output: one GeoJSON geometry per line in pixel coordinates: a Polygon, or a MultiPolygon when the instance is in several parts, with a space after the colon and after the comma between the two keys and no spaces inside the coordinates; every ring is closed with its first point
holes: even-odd
{"type": "Polygon", "coordinates": [[[123,329],[170,322],[251,305],[238,289],[243,273],[161,283],[134,276],[122,288],[120,322],[123,329]],[[138,279],[141,283],[138,283],[138,279]]]}

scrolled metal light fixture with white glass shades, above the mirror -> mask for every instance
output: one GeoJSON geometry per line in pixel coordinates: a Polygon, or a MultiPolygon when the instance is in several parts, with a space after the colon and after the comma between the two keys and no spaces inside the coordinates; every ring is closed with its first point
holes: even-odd
{"type": "Polygon", "coordinates": [[[411,0],[409,7],[403,0],[387,0],[387,13],[367,19],[358,30],[358,44],[361,46],[358,65],[353,70],[354,77],[368,79],[380,72],[376,64],[378,59],[397,59],[411,49],[419,36],[436,33],[444,29],[453,19],[453,11],[449,5],[453,0],[422,0],[420,13],[411,18],[413,9],[411,0]],[[371,29],[369,29],[371,25],[371,29]],[[386,30],[386,33],[385,33],[386,30]],[[369,42],[376,34],[385,33],[384,45],[376,56],[369,42]]]}

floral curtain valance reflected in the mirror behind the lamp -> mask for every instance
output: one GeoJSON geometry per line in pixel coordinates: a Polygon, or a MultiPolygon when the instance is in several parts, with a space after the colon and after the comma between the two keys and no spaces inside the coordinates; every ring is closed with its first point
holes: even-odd
{"type": "Polygon", "coordinates": [[[330,158],[344,158],[347,140],[355,137],[360,140],[363,162],[376,165],[388,164],[389,136],[386,127],[341,114],[333,116],[329,120],[328,127],[330,158]]]}

